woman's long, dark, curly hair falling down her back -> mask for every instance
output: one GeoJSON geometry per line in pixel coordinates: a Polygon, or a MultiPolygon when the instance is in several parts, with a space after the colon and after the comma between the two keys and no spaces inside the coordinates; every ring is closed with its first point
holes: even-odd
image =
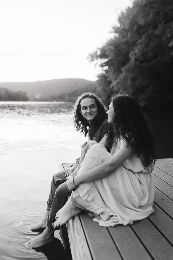
{"type": "Polygon", "coordinates": [[[145,115],[133,96],[122,94],[112,99],[115,122],[107,136],[108,146],[117,144],[121,136],[127,146],[134,147],[137,157],[141,157],[144,166],[155,163],[154,139],[148,127],[145,115]]]}

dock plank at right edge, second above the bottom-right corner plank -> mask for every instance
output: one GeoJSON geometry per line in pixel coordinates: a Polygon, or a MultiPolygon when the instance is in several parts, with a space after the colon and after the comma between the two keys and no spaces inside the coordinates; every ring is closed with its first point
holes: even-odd
{"type": "Polygon", "coordinates": [[[154,188],[154,202],[173,219],[173,201],[168,198],[163,192],[154,188]]]}

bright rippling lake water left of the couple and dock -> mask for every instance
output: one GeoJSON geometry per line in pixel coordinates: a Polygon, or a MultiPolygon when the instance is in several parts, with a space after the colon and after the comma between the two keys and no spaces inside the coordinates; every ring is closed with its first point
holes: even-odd
{"type": "Polygon", "coordinates": [[[55,231],[37,250],[25,243],[45,213],[52,175],[74,162],[86,138],[74,130],[71,103],[0,102],[0,259],[66,259],[55,231]]]}

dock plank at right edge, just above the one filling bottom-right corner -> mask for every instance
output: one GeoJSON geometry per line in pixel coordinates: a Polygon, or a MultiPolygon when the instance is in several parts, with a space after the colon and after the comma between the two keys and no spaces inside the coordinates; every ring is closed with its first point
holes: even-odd
{"type": "Polygon", "coordinates": [[[173,220],[166,215],[155,203],[153,205],[154,213],[148,219],[163,234],[163,236],[173,245],[173,220]]]}

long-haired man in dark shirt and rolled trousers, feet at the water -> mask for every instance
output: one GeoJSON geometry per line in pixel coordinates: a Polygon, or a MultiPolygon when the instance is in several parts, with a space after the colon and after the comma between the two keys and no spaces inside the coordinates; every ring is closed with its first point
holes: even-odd
{"type": "MultiPolygon", "coordinates": [[[[74,127],[77,131],[81,131],[88,140],[100,142],[103,136],[107,133],[109,125],[107,123],[107,114],[102,101],[93,93],[83,93],[80,95],[74,106],[74,127]]],[[[54,174],[51,181],[51,190],[47,201],[46,214],[39,223],[31,227],[31,230],[51,229],[52,223],[55,220],[56,212],[63,207],[67,201],[71,191],[67,189],[66,177],[75,174],[75,169],[78,167],[79,159],[68,171],[64,170],[54,174]]],[[[47,236],[47,231],[41,233],[40,236],[31,239],[26,243],[27,247],[39,247],[52,240],[52,236],[47,236]]]]}

